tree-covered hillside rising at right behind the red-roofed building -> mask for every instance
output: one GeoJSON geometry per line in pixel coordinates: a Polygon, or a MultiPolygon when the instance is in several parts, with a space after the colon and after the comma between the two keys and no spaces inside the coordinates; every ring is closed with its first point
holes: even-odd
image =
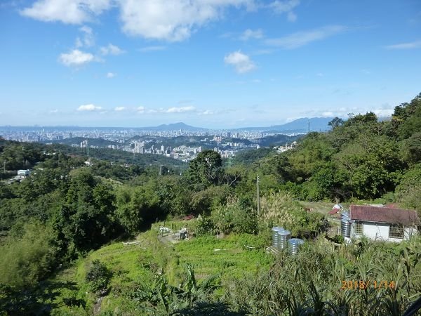
{"type": "Polygon", "coordinates": [[[414,197],[421,196],[416,185],[421,95],[397,106],[390,120],[377,121],[373,113],[351,114],[347,121],[337,118],[330,125],[330,133],[310,133],[285,154],[283,180],[290,192],[312,200],[397,199],[420,208],[414,197]]]}

